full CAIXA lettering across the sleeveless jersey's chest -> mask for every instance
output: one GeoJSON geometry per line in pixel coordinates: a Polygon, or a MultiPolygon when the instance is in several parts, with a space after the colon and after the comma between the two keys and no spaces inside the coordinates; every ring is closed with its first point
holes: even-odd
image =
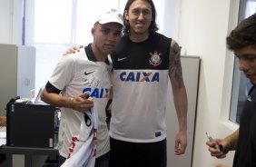
{"type": "Polygon", "coordinates": [[[123,82],[159,82],[159,73],[123,72],[120,79],[123,82]]]}

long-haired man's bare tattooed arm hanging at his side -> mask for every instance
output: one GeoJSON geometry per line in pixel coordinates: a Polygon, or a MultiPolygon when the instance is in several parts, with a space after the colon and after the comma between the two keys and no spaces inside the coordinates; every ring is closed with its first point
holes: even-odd
{"type": "Polygon", "coordinates": [[[174,152],[180,155],[185,152],[187,146],[188,99],[182,77],[181,47],[174,40],[172,40],[169,54],[169,76],[172,83],[174,106],[179,122],[179,132],[175,137],[174,152]]]}

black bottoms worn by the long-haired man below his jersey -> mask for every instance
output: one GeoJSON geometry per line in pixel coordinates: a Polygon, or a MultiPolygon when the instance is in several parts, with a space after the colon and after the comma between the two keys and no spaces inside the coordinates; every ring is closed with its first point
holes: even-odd
{"type": "Polygon", "coordinates": [[[123,142],[110,139],[110,167],[166,167],[166,139],[161,142],[123,142]]]}

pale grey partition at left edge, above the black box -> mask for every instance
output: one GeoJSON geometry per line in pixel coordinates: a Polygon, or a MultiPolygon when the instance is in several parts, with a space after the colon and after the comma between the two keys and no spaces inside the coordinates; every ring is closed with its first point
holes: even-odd
{"type": "Polygon", "coordinates": [[[0,115],[3,115],[12,97],[27,98],[34,89],[35,48],[0,44],[0,59],[0,115]]]}

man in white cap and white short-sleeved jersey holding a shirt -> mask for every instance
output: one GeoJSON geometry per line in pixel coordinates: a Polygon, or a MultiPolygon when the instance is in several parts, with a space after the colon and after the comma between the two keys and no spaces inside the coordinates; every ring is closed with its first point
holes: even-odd
{"type": "MultiPolygon", "coordinates": [[[[41,95],[42,100],[61,107],[62,110],[58,141],[60,165],[69,156],[72,158],[74,154],[75,142],[72,139],[86,139],[86,136],[79,136],[81,135],[80,127],[83,123],[88,127],[93,126],[90,108],[94,106],[98,111],[96,136],[94,132],[94,139],[97,139],[96,155],[94,143],[93,149],[87,149],[88,151],[84,152],[96,156],[95,166],[108,166],[110,144],[105,122],[105,106],[111,87],[109,76],[111,67],[107,56],[119,43],[122,29],[123,16],[116,10],[112,9],[100,16],[92,28],[94,42],[80,49],[76,54],[65,55],[45,85],[41,95]]],[[[90,135],[90,133],[85,132],[82,135],[90,135]]],[[[83,161],[82,166],[86,166],[84,162],[87,160],[81,161],[83,161]]]]}

